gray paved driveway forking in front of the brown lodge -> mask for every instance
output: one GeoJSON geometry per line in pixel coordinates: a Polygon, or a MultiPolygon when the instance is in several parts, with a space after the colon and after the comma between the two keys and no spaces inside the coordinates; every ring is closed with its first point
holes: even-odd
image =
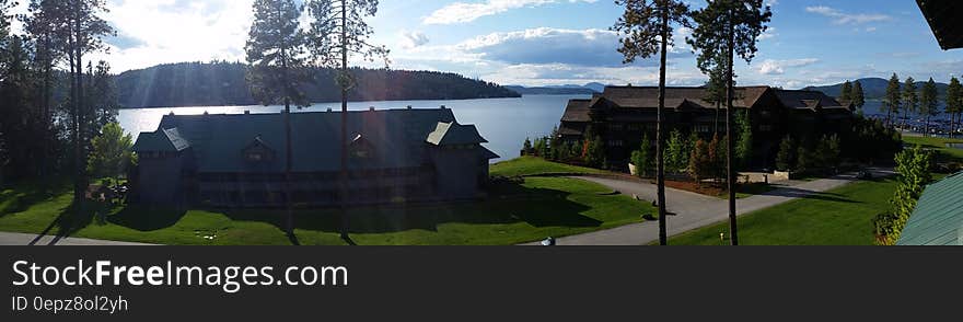
{"type": "MultiPolygon", "coordinates": [[[[873,169],[874,176],[892,175],[887,169],[873,169]]],[[[595,182],[626,195],[655,199],[655,185],[616,179],[579,177],[595,182]]],[[[842,174],[812,182],[787,182],[776,191],[736,200],[738,215],[769,208],[797,198],[809,197],[856,181],[856,174],[842,174]]],[[[728,200],[695,193],[666,188],[665,204],[669,216],[669,235],[703,228],[729,219],[728,200]]],[[[646,221],[614,229],[559,238],[559,245],[642,245],[659,240],[659,222],[646,221]]],[[[538,244],[530,243],[530,244],[538,244]]]]}

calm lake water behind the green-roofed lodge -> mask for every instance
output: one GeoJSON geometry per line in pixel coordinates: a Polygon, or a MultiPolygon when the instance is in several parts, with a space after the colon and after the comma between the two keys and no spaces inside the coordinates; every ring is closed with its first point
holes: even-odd
{"type": "MultiPolygon", "coordinates": [[[[485,99],[463,101],[390,101],[390,102],[352,102],[351,111],[366,111],[371,106],[378,110],[405,108],[439,108],[444,105],[454,112],[461,124],[474,124],[489,143],[486,146],[502,157],[500,160],[518,157],[526,137],[548,135],[552,127],[558,125],[565,113],[566,103],[571,99],[587,99],[584,95],[526,95],[521,99],[485,99]]],[[[327,108],[339,111],[340,103],[320,103],[297,112],[324,112],[327,108]]],[[[120,126],[135,136],[140,133],[154,131],[161,118],[173,112],[177,115],[210,114],[244,114],[278,113],[283,106],[206,106],[206,107],[170,107],[170,108],[134,108],[121,110],[118,116],[120,126]]],[[[499,160],[492,160],[499,161],[499,160]]]]}

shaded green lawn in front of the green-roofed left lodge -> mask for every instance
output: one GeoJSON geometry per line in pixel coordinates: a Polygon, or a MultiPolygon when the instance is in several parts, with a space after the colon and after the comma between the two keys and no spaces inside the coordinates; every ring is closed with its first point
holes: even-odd
{"type": "MultiPolygon", "coordinates": [[[[69,185],[57,189],[27,186],[0,194],[0,231],[162,244],[291,244],[283,233],[282,210],[165,210],[127,207],[61,220],[70,211],[69,185]],[[98,221],[105,221],[100,223],[98,221]]],[[[653,209],[601,185],[572,179],[529,177],[523,184],[491,188],[475,203],[371,207],[350,211],[351,239],[370,245],[514,244],[641,221],[653,209]]],[[[67,217],[65,217],[67,218],[67,217]]],[[[336,210],[298,210],[300,244],[337,245],[336,210]]]]}

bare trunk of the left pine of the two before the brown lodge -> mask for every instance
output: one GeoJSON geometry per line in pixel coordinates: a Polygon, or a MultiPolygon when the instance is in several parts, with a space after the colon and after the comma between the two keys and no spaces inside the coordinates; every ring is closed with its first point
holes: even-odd
{"type": "Polygon", "coordinates": [[[659,61],[659,106],[655,111],[655,182],[657,182],[657,206],[659,207],[659,244],[669,244],[669,218],[665,207],[665,125],[662,112],[665,110],[665,65],[669,42],[669,9],[662,7],[662,44],[661,57],[659,61]]]}

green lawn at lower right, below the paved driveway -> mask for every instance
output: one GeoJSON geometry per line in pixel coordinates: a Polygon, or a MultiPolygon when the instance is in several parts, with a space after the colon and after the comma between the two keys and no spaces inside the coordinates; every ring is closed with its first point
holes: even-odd
{"type": "MultiPolygon", "coordinates": [[[[739,218],[745,245],[872,245],[872,218],[890,209],[892,180],[854,183],[739,218]]],[[[721,245],[722,222],[670,239],[675,245],[721,245]]]]}

